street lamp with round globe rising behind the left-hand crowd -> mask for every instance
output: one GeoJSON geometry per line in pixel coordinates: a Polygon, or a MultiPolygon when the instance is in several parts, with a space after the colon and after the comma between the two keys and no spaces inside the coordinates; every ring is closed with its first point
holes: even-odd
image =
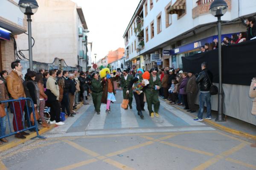
{"type": "Polygon", "coordinates": [[[20,0],[18,3],[20,11],[27,15],[28,33],[29,33],[29,68],[33,71],[33,57],[32,57],[32,33],[31,33],[31,15],[35,14],[38,9],[36,0],[20,0]]]}

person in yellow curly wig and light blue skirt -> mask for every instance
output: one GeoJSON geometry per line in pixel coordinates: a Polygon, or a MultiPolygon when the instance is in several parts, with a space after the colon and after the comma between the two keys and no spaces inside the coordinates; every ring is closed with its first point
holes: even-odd
{"type": "Polygon", "coordinates": [[[115,98],[116,91],[114,88],[113,81],[111,79],[109,68],[103,68],[99,72],[99,75],[102,79],[101,81],[102,89],[103,89],[102,103],[107,104],[106,113],[110,113],[110,103],[116,102],[116,98],[115,98]]]}

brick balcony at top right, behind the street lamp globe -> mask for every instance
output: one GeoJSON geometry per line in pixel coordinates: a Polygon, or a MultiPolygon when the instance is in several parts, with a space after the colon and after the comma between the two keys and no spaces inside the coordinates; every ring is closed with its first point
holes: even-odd
{"type": "MultiPolygon", "coordinates": [[[[203,14],[209,14],[209,8],[213,0],[198,0],[197,6],[192,9],[192,18],[195,19],[203,14]]],[[[231,10],[231,0],[225,0],[228,6],[228,11],[231,10]]]]}

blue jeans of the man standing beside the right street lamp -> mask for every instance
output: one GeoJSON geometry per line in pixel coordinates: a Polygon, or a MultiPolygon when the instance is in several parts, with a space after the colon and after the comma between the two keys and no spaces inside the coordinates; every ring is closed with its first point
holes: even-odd
{"type": "Polygon", "coordinates": [[[199,111],[198,111],[198,119],[203,119],[204,114],[204,104],[207,106],[207,117],[211,117],[211,94],[208,93],[200,93],[199,95],[199,111]]]}

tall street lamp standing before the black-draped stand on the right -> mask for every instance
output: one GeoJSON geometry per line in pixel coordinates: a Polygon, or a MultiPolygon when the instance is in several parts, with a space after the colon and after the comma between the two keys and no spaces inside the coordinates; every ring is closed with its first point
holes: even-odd
{"type": "Polygon", "coordinates": [[[221,16],[227,12],[227,3],[224,0],[214,0],[209,8],[210,13],[218,17],[218,66],[219,66],[219,92],[218,92],[218,116],[216,122],[224,122],[223,118],[223,90],[222,90],[222,62],[221,62],[221,16]]]}

